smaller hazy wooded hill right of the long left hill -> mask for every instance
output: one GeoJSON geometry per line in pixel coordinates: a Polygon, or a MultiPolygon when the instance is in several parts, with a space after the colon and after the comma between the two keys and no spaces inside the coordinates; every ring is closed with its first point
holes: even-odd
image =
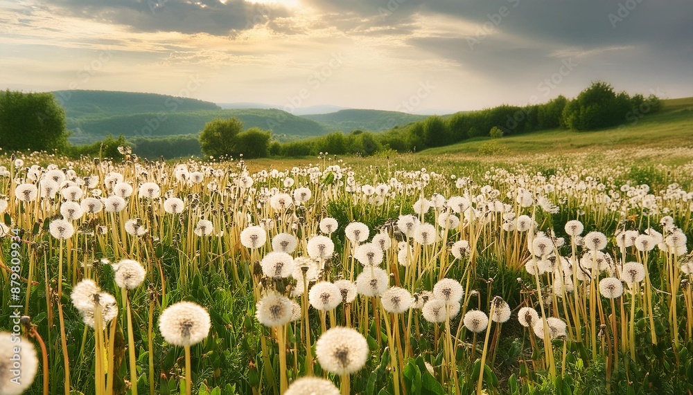
{"type": "Polygon", "coordinates": [[[301,116],[322,123],[331,131],[349,132],[356,129],[385,131],[397,125],[423,120],[428,116],[401,113],[398,111],[345,109],[335,113],[301,116]]]}

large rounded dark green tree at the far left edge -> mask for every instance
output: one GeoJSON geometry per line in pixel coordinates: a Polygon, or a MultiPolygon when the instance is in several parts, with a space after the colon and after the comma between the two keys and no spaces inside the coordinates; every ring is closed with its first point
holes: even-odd
{"type": "Polygon", "coordinates": [[[0,91],[0,146],[8,151],[67,148],[65,111],[53,93],[0,91]]]}

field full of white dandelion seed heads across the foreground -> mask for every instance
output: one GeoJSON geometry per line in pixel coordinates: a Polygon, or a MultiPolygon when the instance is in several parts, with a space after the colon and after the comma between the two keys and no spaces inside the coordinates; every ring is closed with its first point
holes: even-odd
{"type": "Polygon", "coordinates": [[[691,394],[693,156],[619,155],[0,156],[0,394],[691,394]]]}

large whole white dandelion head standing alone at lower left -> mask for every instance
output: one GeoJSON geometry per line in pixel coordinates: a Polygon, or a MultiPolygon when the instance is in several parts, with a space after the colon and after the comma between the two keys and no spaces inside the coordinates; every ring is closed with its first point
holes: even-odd
{"type": "Polygon", "coordinates": [[[159,316],[159,331],[166,342],[192,346],[209,335],[209,313],[194,302],[178,302],[168,306],[159,316]]]}

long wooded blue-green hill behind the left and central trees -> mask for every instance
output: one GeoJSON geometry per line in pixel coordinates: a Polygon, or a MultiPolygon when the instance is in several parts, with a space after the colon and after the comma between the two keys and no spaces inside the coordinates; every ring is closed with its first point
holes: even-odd
{"type": "Polygon", "coordinates": [[[202,100],[154,93],[55,91],[65,109],[71,143],[89,144],[108,134],[163,138],[198,134],[214,118],[236,117],[246,128],[272,130],[281,141],[321,136],[330,129],[277,109],[221,109],[202,100]]]}

